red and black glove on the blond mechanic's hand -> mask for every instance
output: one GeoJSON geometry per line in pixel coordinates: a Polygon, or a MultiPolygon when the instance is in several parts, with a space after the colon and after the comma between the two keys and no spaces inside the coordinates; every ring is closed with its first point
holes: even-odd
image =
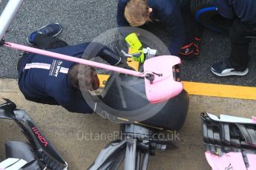
{"type": "Polygon", "coordinates": [[[179,54],[183,59],[192,59],[200,55],[200,38],[194,38],[191,44],[183,46],[179,54]]]}

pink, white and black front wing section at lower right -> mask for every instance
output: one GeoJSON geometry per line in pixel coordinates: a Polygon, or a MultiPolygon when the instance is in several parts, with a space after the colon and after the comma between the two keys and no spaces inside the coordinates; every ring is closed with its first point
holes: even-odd
{"type": "Polygon", "coordinates": [[[212,170],[256,169],[256,122],[229,115],[201,115],[206,160],[212,170]]]}

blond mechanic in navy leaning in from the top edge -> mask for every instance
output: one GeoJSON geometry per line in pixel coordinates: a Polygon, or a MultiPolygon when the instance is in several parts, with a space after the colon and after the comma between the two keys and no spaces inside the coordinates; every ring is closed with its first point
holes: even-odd
{"type": "MultiPolygon", "coordinates": [[[[203,30],[191,14],[190,7],[190,0],[119,0],[116,19],[118,27],[147,29],[150,23],[160,23],[171,38],[168,47],[171,55],[194,58],[200,54],[203,30]]],[[[134,41],[129,33],[122,35],[126,41],[134,41]]]]}

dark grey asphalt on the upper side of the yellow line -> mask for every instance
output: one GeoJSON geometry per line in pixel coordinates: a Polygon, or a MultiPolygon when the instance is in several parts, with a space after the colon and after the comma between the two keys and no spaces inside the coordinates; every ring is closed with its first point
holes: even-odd
{"type": "MultiPolygon", "coordinates": [[[[3,9],[5,3],[6,1],[1,2],[0,10],[3,9]]],[[[59,22],[64,27],[59,37],[69,44],[91,41],[101,33],[116,27],[116,5],[117,0],[25,0],[5,39],[26,44],[26,37],[30,32],[50,22],[59,22]]],[[[163,30],[157,29],[154,34],[168,44],[168,35],[163,30]]],[[[203,35],[200,58],[183,61],[183,81],[255,86],[255,47],[256,44],[253,41],[250,48],[252,59],[248,75],[219,78],[211,73],[210,68],[214,62],[229,56],[229,38],[226,35],[206,30],[203,35]]],[[[0,49],[0,77],[17,78],[16,64],[19,52],[4,47],[0,49]]]]}

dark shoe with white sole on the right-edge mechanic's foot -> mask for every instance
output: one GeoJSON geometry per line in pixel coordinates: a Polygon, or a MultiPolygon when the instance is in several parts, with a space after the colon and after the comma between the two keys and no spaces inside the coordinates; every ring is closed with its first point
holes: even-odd
{"type": "Polygon", "coordinates": [[[213,64],[211,72],[218,76],[246,75],[249,72],[249,69],[247,67],[234,68],[229,59],[227,59],[213,64]]]}

